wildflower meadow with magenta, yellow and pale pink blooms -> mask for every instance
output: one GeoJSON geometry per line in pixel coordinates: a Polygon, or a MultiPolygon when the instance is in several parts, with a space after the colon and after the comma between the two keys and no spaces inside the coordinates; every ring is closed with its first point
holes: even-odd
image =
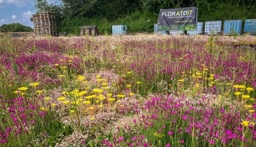
{"type": "Polygon", "coordinates": [[[0,146],[256,144],[256,38],[0,38],[0,146]]]}

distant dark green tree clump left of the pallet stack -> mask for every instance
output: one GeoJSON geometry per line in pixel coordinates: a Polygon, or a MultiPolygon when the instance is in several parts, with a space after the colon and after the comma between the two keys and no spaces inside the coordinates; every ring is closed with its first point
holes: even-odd
{"type": "Polygon", "coordinates": [[[6,32],[30,32],[33,31],[31,27],[23,26],[19,23],[13,23],[13,24],[3,24],[3,26],[0,27],[0,29],[3,29],[6,32]]]}

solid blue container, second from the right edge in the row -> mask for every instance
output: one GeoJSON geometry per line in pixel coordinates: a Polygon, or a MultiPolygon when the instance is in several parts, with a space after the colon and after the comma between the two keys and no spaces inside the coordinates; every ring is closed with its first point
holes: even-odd
{"type": "Polygon", "coordinates": [[[225,35],[241,34],[242,20],[225,20],[223,32],[225,35]]]}

